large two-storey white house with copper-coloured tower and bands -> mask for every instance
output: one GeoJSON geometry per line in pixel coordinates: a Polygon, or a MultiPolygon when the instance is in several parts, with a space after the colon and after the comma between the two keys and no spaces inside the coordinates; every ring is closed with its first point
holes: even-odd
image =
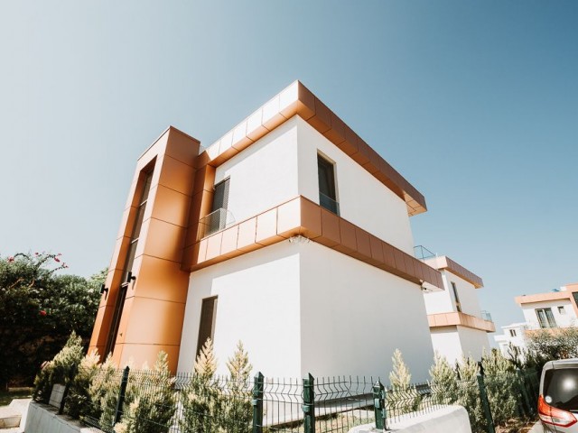
{"type": "Polygon", "coordinates": [[[421,288],[443,290],[413,254],[425,210],[298,81],[206,149],[169,127],[136,163],[90,347],[191,371],[211,337],[223,373],[242,340],[272,377],[384,376],[399,348],[424,380],[421,288]]]}

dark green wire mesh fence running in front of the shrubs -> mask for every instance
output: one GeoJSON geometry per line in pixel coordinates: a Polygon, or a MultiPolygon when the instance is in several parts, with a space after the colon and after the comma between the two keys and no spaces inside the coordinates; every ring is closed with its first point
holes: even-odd
{"type": "Polygon", "coordinates": [[[117,433],[347,433],[363,424],[387,428],[452,404],[468,410],[474,433],[493,433],[494,425],[535,416],[538,388],[536,372],[520,371],[392,389],[365,377],[279,380],[257,373],[244,380],[84,368],[77,377],[85,386],[90,377],[89,390],[75,390],[71,382],[64,411],[117,433]]]}

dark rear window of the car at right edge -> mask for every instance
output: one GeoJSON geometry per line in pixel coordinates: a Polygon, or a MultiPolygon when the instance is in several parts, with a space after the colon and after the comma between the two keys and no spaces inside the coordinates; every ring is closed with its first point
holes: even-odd
{"type": "Polygon", "coordinates": [[[544,375],[544,398],[555,408],[578,411],[578,369],[547,370],[544,375]]]}

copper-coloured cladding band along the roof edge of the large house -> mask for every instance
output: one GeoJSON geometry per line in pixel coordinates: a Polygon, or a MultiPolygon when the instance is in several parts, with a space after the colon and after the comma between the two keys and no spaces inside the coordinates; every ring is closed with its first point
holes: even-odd
{"type": "Polygon", "coordinates": [[[285,121],[299,115],[331,143],[406,201],[410,216],[427,210],[424,196],[312,92],[295,81],[200,154],[196,167],[218,167],[285,121]]]}

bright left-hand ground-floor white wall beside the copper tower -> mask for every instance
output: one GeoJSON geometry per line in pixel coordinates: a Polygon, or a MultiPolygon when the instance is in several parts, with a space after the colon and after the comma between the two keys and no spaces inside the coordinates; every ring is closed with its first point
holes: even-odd
{"type": "Polygon", "coordinates": [[[272,376],[300,377],[299,251],[285,241],[191,273],[178,371],[191,372],[202,299],[217,295],[218,373],[238,340],[250,362],[272,376]]]}

